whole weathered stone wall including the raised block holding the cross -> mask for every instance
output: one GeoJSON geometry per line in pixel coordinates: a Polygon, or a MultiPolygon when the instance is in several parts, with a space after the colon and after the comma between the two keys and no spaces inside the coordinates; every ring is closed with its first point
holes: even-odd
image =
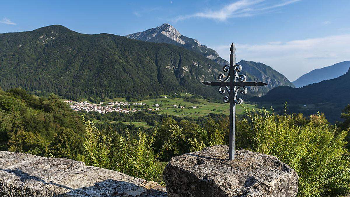
{"type": "Polygon", "coordinates": [[[0,196],[293,197],[298,175],[274,156],[216,145],[173,157],[156,182],[64,158],[0,151],[0,196]]]}

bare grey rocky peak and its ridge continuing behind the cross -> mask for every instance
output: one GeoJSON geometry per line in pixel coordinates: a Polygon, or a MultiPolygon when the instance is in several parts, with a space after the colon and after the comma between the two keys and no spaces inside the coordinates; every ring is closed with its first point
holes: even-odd
{"type": "MultiPolygon", "coordinates": [[[[198,53],[201,53],[210,60],[214,60],[217,63],[223,65],[230,64],[228,61],[219,57],[219,54],[205,45],[201,45],[196,39],[188,38],[176,30],[173,26],[169,24],[163,24],[159,27],[147,29],[144,32],[138,32],[126,35],[127,38],[142,40],[146,42],[156,42],[156,43],[168,43],[176,46],[180,46],[198,53]]],[[[278,73],[276,70],[263,63],[257,63],[252,61],[241,60],[238,62],[243,66],[242,73],[246,74],[248,80],[252,81],[265,81],[269,85],[266,87],[254,87],[250,88],[255,95],[262,95],[268,90],[278,87],[278,86],[291,86],[291,83],[285,76],[278,73]]]]}

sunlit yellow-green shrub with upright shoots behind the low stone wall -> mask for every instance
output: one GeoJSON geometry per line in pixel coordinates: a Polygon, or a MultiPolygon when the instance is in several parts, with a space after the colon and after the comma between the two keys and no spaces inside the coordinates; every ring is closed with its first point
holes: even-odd
{"type": "Polygon", "coordinates": [[[137,138],[108,135],[99,131],[91,121],[85,121],[85,164],[123,172],[147,180],[158,179],[160,165],[152,145],[154,134],[138,131],[137,138]]]}

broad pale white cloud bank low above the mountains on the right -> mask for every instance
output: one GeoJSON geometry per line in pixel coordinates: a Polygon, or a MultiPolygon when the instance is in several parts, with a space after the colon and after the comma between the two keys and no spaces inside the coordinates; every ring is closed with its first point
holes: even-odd
{"type": "MultiPolygon", "coordinates": [[[[327,36],[261,45],[235,43],[237,61],[262,62],[285,75],[290,81],[316,68],[350,60],[350,34],[327,36]]],[[[211,47],[228,59],[230,45],[211,47]]]]}

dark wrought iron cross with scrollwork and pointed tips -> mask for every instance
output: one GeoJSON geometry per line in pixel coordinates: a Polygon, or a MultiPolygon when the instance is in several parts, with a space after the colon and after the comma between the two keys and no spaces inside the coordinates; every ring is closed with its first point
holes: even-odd
{"type": "Polygon", "coordinates": [[[219,93],[224,94],[225,90],[229,93],[229,96],[224,96],[223,101],[225,103],[230,102],[230,135],[229,135],[229,158],[230,160],[235,159],[235,123],[236,123],[236,104],[242,104],[243,99],[237,98],[238,91],[240,94],[246,94],[248,89],[247,86],[265,86],[267,83],[246,81],[245,75],[238,75],[238,72],[242,70],[242,66],[236,64],[236,47],[232,42],[230,54],[230,66],[225,65],[222,70],[228,72],[225,77],[223,74],[219,75],[219,81],[217,82],[203,82],[207,86],[219,86],[219,93]],[[231,79],[230,79],[231,76],[231,79]],[[230,79],[230,81],[228,81],[230,79]],[[236,81],[237,80],[237,81],[236,81]],[[230,88],[228,87],[230,86],[230,88]],[[236,86],[238,86],[236,88],[236,86]]]}

